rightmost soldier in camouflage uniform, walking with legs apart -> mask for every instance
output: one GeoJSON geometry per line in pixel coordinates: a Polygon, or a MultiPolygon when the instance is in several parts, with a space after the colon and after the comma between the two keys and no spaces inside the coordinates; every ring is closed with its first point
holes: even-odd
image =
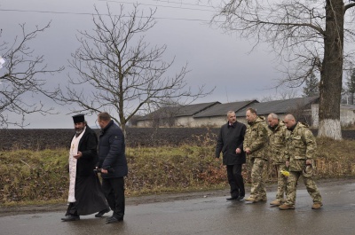
{"type": "Polygon", "coordinates": [[[280,205],[280,209],[295,209],[296,186],[300,176],[303,175],[304,185],[313,200],[312,209],[319,209],[323,206],[322,199],[315,184],[312,174],[306,173],[304,168],[310,168],[316,151],[316,139],[307,125],[296,121],[291,114],[286,115],[284,123],[288,128],[286,132],[286,155],[289,168],[287,199],[280,205]]]}

